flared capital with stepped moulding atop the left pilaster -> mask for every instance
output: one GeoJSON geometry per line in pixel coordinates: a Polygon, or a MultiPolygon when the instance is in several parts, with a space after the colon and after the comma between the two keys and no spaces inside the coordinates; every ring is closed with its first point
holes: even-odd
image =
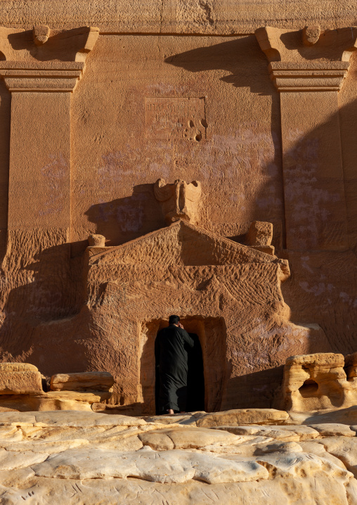
{"type": "Polygon", "coordinates": [[[98,28],[93,27],[65,32],[34,27],[32,32],[15,33],[0,28],[0,51],[6,58],[0,60],[0,77],[11,92],[71,93],[83,75],[86,56],[98,35],[98,28]],[[14,51],[19,47],[23,48],[20,60],[14,51]]]}

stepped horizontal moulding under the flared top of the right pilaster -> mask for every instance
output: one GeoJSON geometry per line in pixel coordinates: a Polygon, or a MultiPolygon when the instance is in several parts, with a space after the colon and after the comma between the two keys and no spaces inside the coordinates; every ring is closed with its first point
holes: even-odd
{"type": "Polygon", "coordinates": [[[271,79],[278,91],[339,91],[348,69],[349,63],[345,61],[269,64],[271,79]]]}

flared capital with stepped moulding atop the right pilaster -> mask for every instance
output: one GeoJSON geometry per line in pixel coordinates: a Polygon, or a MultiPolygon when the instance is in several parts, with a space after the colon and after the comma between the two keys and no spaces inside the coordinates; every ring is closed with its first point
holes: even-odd
{"type": "Polygon", "coordinates": [[[255,34],[278,91],[339,91],[357,49],[357,27],[293,31],[267,26],[255,34]]]}

